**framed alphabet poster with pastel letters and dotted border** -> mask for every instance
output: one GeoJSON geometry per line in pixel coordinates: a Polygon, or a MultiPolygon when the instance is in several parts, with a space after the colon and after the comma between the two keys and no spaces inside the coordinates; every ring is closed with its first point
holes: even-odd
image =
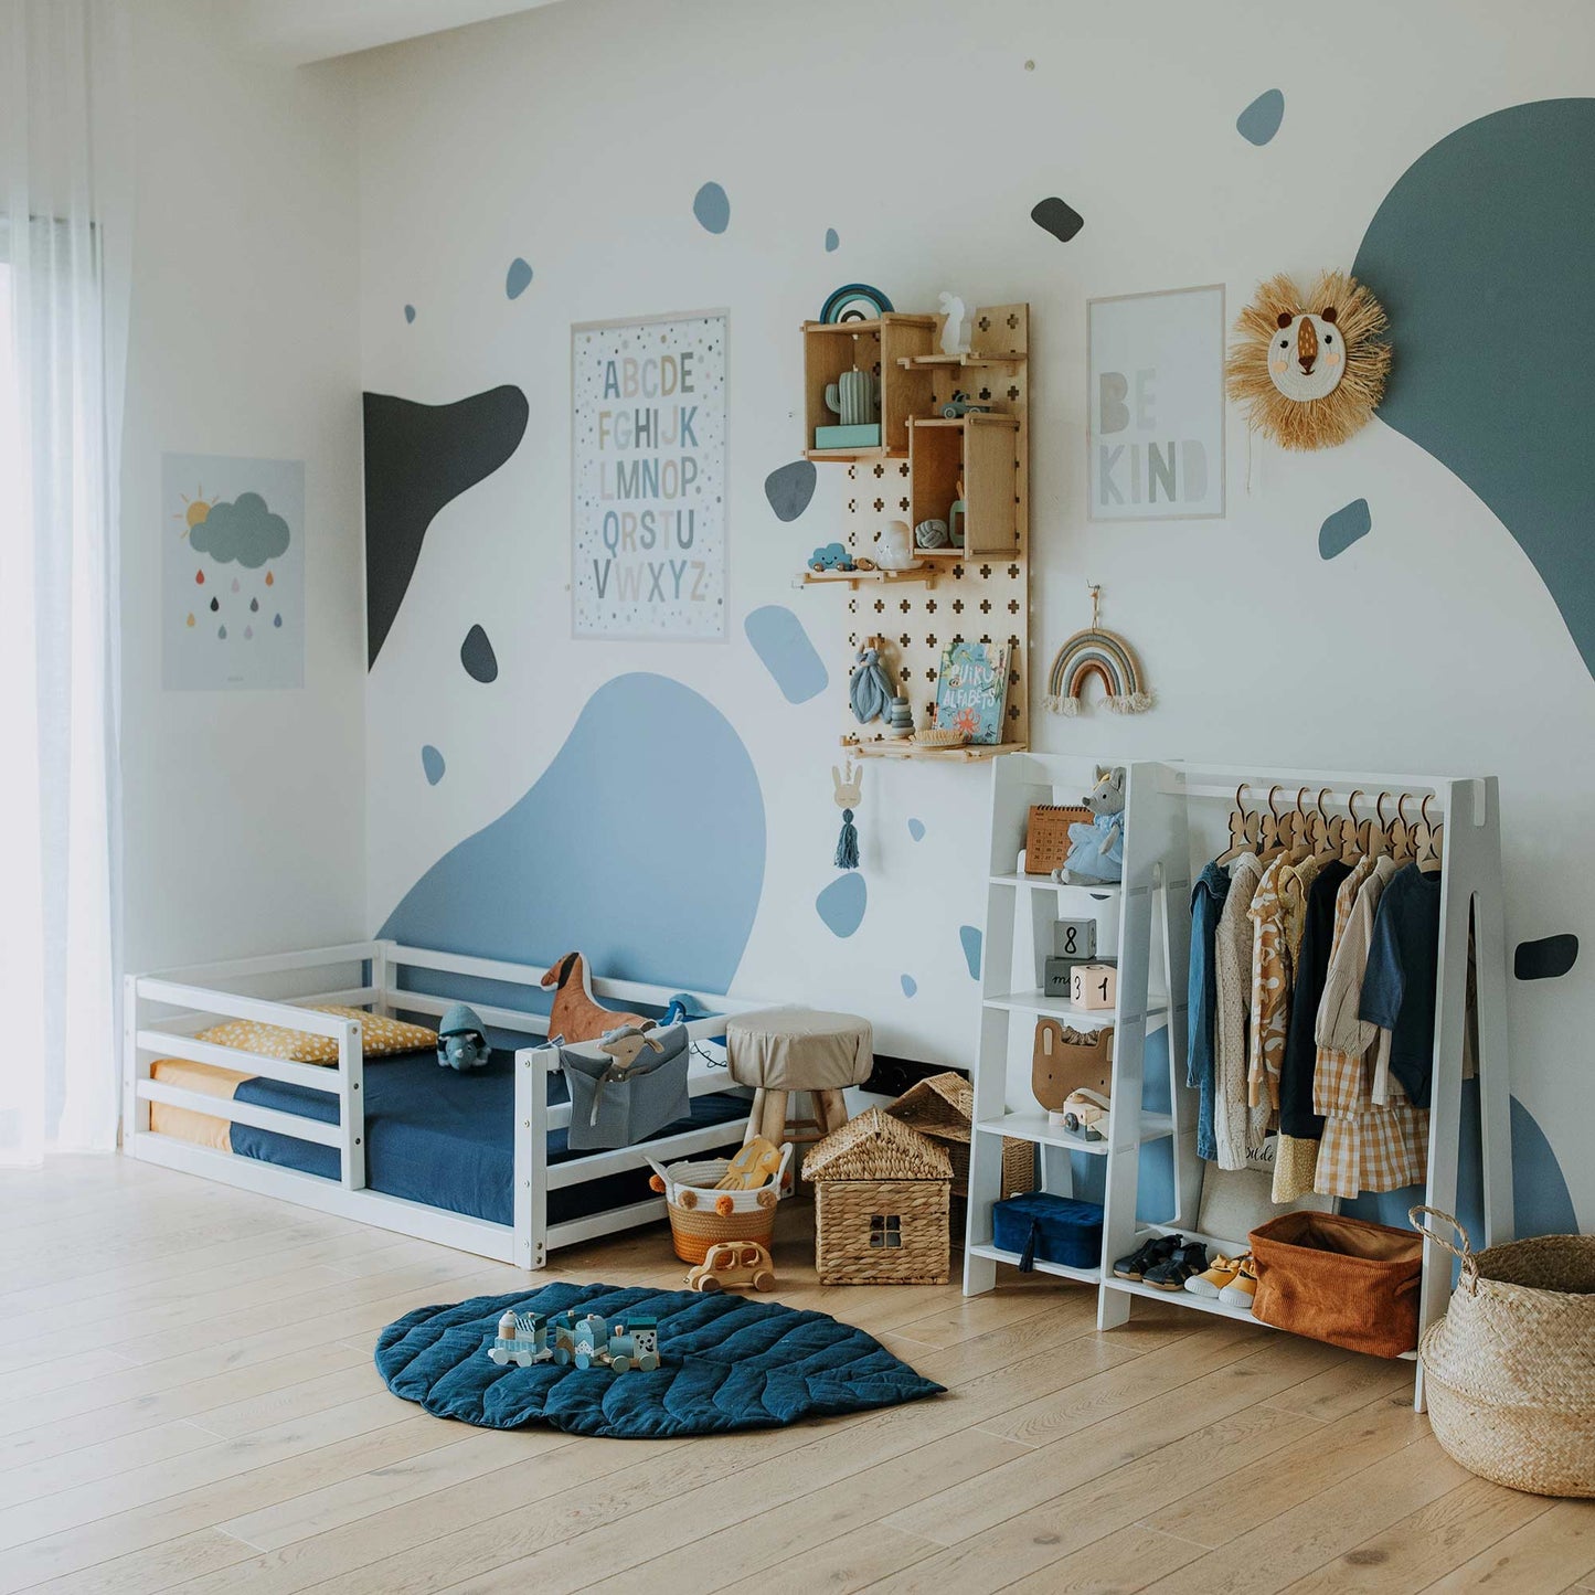
{"type": "Polygon", "coordinates": [[[726,319],[571,329],[577,638],[726,638],[726,319]]]}

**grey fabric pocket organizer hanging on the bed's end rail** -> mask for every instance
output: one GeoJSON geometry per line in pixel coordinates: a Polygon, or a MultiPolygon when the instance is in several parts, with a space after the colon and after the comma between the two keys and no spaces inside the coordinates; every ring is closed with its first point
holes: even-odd
{"type": "Polygon", "coordinates": [[[600,1042],[561,1046],[571,1089],[573,1152],[630,1147],[692,1113],[684,1024],[664,1030],[622,1026],[600,1042]]]}

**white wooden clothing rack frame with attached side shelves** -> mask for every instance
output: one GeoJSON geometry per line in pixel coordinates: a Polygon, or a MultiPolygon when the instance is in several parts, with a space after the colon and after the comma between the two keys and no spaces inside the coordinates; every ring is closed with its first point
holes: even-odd
{"type": "MultiPolygon", "coordinates": [[[[1201,1185],[1206,1164],[1196,1156],[1196,1097],[1185,1086],[1187,1002],[1185,984],[1190,960],[1190,882],[1199,861],[1191,857],[1190,820],[1203,805],[1222,804],[1212,810],[1214,836],[1222,837],[1223,813],[1235,802],[1236,788],[1244,786],[1250,807],[1263,807],[1273,790],[1282,813],[1294,807],[1297,794],[1306,788],[1305,801],[1322,802],[1325,812],[1346,813],[1348,799],[1361,794],[1357,813],[1373,817],[1380,793],[1394,799],[1429,798],[1428,818],[1445,826],[1443,868],[1440,876],[1440,941],[1436,990],[1434,1085],[1429,1110],[1429,1155],[1424,1201],[1447,1212],[1456,1211],[1458,1164],[1461,1144],[1463,1053],[1467,1026],[1467,930],[1474,924],[1479,1013],[1479,1104],[1483,1152],[1483,1243],[1496,1246],[1512,1238],[1512,1142],[1510,1099],[1506,1054],[1506,917],[1501,884],[1501,821],[1498,783],[1495,777],[1437,777],[1348,774],[1343,770],[1258,769],[1195,764],[1132,762],[1126,766],[1126,829],[1124,880],[1115,893],[1099,900],[1121,906],[1118,916],[1118,1006],[1112,1011],[1069,1013],[1070,1022],[1096,1021],[1115,1024],[1113,1115],[1112,1134],[1105,1144],[1075,1145],[1078,1137],[1046,1129],[1026,1134],[1027,1128],[1046,1124],[1046,1115],[1030,1102],[1027,1075],[1010,1078],[1011,1013],[1054,1011],[1011,1003],[998,987],[1011,976],[1013,931],[1018,917],[1014,892],[1029,887],[1032,939],[1037,963],[1046,939],[1043,930],[1059,912],[1054,893],[1073,893],[1070,904],[1088,903],[1080,896],[1088,888],[1057,887],[1045,877],[1016,876],[1014,860],[1024,845],[1024,823],[1032,802],[1078,801],[1091,786],[1093,761],[1075,758],[1043,758],[1010,754],[992,762],[992,831],[987,888],[986,970],[983,971],[981,1048],[975,1070],[975,1118],[970,1160],[968,1249],[965,1254],[965,1294],[989,1290],[995,1281],[997,1262],[1014,1262],[995,1250],[990,1204],[997,1196],[1002,1150],[998,1136],[1021,1136],[1043,1148],[1101,1150],[1107,1158],[1104,1195],[1102,1257],[1094,1270],[1059,1270],[1037,1263],[1046,1271],[1094,1282],[1099,1290],[1097,1321],[1102,1329],[1123,1324],[1134,1295],[1155,1297],[1177,1306],[1219,1313],[1246,1322],[1260,1322],[1244,1308],[1231,1308],[1190,1292],[1163,1292],[1136,1281],[1113,1276],[1112,1262],[1132,1252],[1140,1239],[1156,1233],[1179,1231],[1191,1239],[1233,1252],[1244,1238],[1204,1236],[1196,1228],[1201,1185]],[[1161,909],[1161,914],[1155,914],[1161,909]],[[1155,925],[1156,920],[1156,925],[1155,925]],[[1152,979],[1153,965],[1164,981],[1152,979]],[[994,994],[997,1000],[994,1000],[994,994]],[[1140,1104],[1145,1083],[1145,1034],[1148,1018],[1169,1026],[1169,1126],[1155,1115],[1132,1115],[1126,1104],[1140,1104]],[[1029,1109],[1010,1112],[1008,1102],[1029,1102],[1029,1109]],[[1136,1214],[1140,1172],[1140,1148],[1153,1139],[1172,1137],[1174,1212],[1166,1222],[1144,1223],[1136,1214]]],[[[1392,815],[1386,815],[1392,818],[1392,815]]],[[[1416,818],[1416,815],[1408,815],[1416,818]]],[[[1220,844],[1222,845],[1222,844],[1220,844]]],[[[1209,857],[1214,849],[1198,844],[1209,857]]],[[[1070,906],[1070,914],[1085,909],[1070,906]]],[[[1099,914],[1099,924],[1107,919],[1099,914]]],[[[1099,933],[1099,944],[1102,936],[1099,933]]],[[[1042,986],[1040,970],[1037,986],[1042,986]]],[[[1029,1048],[1026,1048],[1027,1054],[1029,1048]]],[[[1018,1072],[1016,1072],[1018,1073],[1018,1072]]],[[[1043,1182],[1048,1190],[1069,1195],[1072,1188],[1069,1161],[1062,1153],[1048,1156],[1043,1150],[1043,1182]]],[[[1445,1311],[1451,1287],[1451,1263],[1432,1241],[1423,1249],[1423,1290],[1420,1302],[1420,1335],[1445,1311]]],[[[1423,1407],[1421,1372],[1416,1381],[1416,1405],[1423,1407]]]]}

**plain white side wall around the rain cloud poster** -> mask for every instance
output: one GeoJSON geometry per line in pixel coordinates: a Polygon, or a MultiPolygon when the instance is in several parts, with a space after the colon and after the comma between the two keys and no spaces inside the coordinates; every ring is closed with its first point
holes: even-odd
{"type": "Polygon", "coordinates": [[[123,443],[129,970],[364,922],[354,104],[230,57],[204,0],[129,8],[137,219],[123,443]],[[297,692],[161,691],[161,453],[303,459],[297,692]]]}

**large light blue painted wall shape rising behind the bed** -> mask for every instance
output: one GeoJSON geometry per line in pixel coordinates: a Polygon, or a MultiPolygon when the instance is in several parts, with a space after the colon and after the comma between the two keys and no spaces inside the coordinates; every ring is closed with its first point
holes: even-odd
{"type": "Polygon", "coordinates": [[[581,949],[600,975],[723,992],[764,842],[758,775],[724,715],[667,676],[616,676],[525,798],[445,853],[380,935],[538,965],[581,949]]]}

